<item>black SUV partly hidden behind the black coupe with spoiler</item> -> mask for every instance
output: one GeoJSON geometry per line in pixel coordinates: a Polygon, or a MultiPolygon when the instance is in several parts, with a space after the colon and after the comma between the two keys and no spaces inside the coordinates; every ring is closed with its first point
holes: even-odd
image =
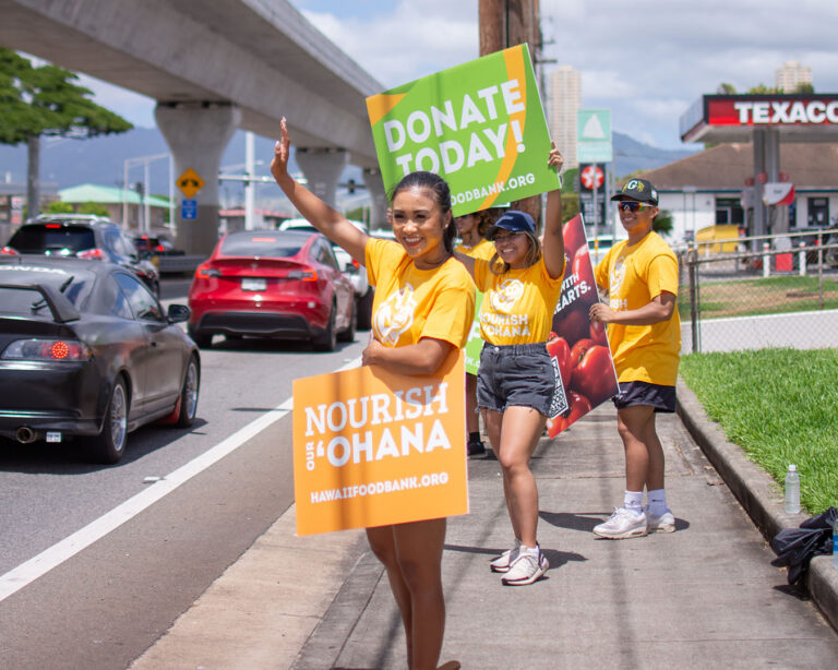
{"type": "Polygon", "coordinates": [[[29,219],[0,249],[1,255],[16,253],[110,261],[133,270],[155,296],[160,295],[160,276],[154,263],[142,258],[133,240],[108,218],[57,214],[29,219]]]}

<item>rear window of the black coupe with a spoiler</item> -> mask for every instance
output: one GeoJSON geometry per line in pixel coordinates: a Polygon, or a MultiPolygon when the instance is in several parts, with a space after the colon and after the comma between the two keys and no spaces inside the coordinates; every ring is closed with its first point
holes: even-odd
{"type": "MultiPolygon", "coordinates": [[[[69,270],[57,267],[36,267],[28,265],[0,266],[0,314],[14,316],[34,316],[44,311],[38,307],[43,302],[40,291],[34,286],[51,286],[64,294],[76,308],[83,304],[89,295],[94,274],[82,268],[69,270]]],[[[44,306],[46,307],[46,306],[44,306]]],[[[45,318],[50,318],[46,309],[45,318]]]]}

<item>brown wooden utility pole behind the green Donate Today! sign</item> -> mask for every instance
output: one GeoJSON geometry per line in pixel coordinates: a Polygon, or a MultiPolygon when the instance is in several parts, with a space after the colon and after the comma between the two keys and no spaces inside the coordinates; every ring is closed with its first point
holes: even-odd
{"type": "MultiPolygon", "coordinates": [[[[478,16],[480,56],[527,43],[531,58],[538,60],[541,51],[538,0],[479,0],[478,16]]],[[[513,205],[529,213],[540,227],[540,195],[518,200],[513,205]]]]}

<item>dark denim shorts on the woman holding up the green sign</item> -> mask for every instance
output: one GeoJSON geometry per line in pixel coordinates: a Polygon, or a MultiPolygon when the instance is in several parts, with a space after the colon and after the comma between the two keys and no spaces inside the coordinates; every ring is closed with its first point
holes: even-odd
{"type": "Polygon", "coordinates": [[[543,342],[526,345],[483,344],[477,374],[477,405],[503,411],[530,407],[550,416],[555,371],[543,342]]]}

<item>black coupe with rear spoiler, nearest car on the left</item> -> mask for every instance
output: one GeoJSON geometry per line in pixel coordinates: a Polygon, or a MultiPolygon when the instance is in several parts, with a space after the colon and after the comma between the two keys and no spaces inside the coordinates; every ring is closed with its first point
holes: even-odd
{"type": "Polygon", "coordinates": [[[0,256],[0,435],[79,436],[116,463],[140,426],[191,426],[201,359],[177,325],[188,319],[107,261],[0,256]]]}

